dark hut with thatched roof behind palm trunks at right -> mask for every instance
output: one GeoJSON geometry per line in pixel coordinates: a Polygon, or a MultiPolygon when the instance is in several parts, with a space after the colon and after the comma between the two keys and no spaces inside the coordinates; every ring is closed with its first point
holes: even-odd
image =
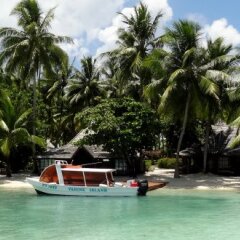
{"type": "MultiPolygon", "coordinates": [[[[223,175],[240,175],[240,147],[229,148],[236,135],[237,128],[230,127],[225,123],[220,122],[211,126],[207,171],[223,175]]],[[[182,173],[203,170],[203,151],[204,146],[202,145],[200,149],[186,148],[180,152],[182,173]]]]}

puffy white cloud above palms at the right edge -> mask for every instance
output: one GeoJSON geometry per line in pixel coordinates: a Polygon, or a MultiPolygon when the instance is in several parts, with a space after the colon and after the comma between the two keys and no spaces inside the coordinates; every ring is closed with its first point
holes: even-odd
{"type": "Polygon", "coordinates": [[[225,18],[215,20],[211,25],[205,25],[203,32],[207,38],[212,40],[223,37],[226,44],[232,44],[233,46],[240,44],[240,32],[229,25],[225,18]]]}

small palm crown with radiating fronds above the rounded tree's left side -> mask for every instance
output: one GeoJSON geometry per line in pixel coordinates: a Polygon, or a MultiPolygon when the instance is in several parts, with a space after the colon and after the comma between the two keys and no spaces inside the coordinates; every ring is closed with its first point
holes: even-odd
{"type": "Polygon", "coordinates": [[[81,60],[81,70],[76,73],[75,78],[68,80],[64,88],[67,101],[78,110],[96,105],[105,94],[99,77],[96,60],[84,57],[81,60]]]}

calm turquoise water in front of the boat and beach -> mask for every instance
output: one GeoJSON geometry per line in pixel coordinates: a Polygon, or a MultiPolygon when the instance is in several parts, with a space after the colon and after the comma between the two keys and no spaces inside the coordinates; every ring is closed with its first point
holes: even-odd
{"type": "Polygon", "coordinates": [[[239,240],[240,193],[160,189],[100,198],[0,188],[0,239],[239,240]]]}

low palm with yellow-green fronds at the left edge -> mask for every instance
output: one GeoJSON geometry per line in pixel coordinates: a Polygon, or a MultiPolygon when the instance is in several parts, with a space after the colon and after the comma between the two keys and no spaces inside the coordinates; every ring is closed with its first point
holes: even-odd
{"type": "Polygon", "coordinates": [[[34,142],[45,147],[45,143],[43,139],[30,135],[26,128],[31,110],[17,114],[5,92],[0,91],[0,94],[0,153],[6,163],[6,175],[11,177],[10,156],[12,150],[21,144],[27,145],[34,142]]]}

